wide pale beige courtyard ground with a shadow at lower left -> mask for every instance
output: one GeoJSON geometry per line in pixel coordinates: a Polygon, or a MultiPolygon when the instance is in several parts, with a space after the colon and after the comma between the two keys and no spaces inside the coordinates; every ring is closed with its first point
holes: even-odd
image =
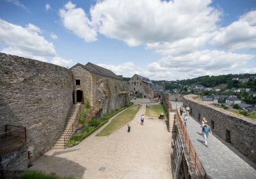
{"type": "Polygon", "coordinates": [[[145,120],[141,126],[141,114],[145,105],[131,121],[130,133],[126,126],[108,137],[95,133],[72,148],[50,150],[29,170],[77,178],[172,178],[172,136],[161,120],[145,120]]]}

